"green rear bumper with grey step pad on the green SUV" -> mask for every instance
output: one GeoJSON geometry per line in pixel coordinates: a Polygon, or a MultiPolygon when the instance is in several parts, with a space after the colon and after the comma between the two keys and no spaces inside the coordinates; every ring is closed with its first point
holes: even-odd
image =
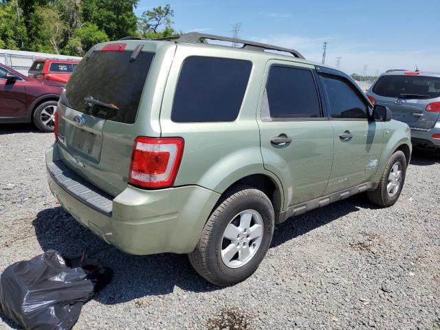
{"type": "Polygon", "coordinates": [[[160,190],[127,186],[111,199],[98,188],[87,186],[69,168],[56,166],[60,164],[57,161],[54,145],[46,151],[46,166],[56,199],[76,221],[129,254],[191,252],[220,197],[217,192],[199,186],[160,190]],[[56,167],[58,170],[54,170],[56,167]]]}

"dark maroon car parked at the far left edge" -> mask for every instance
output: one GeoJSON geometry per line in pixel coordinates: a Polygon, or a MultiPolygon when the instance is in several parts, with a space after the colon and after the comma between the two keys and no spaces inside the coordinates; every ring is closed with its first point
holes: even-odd
{"type": "Polygon", "coordinates": [[[24,76],[0,64],[0,124],[34,122],[41,131],[53,132],[56,104],[64,86],[24,76]]]}

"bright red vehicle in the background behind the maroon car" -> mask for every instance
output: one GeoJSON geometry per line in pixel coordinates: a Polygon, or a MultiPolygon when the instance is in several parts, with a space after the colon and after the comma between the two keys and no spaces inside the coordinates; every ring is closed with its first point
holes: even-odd
{"type": "Polygon", "coordinates": [[[45,78],[65,84],[78,63],[80,62],[40,58],[32,63],[28,75],[32,78],[45,78]]]}

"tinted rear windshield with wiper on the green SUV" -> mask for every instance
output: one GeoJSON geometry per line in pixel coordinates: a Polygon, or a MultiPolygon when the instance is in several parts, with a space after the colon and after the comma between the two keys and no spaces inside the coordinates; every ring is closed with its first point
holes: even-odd
{"type": "Polygon", "coordinates": [[[132,124],[135,122],[146,76],[154,54],[140,52],[93,52],[78,65],[66,85],[67,106],[98,118],[132,124]],[[85,98],[109,104],[87,106],[85,98]]]}

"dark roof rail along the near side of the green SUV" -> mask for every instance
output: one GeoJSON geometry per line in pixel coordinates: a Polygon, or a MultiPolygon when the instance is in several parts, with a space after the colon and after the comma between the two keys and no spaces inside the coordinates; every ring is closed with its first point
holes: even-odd
{"type": "Polygon", "coordinates": [[[204,34],[199,32],[189,32],[186,34],[182,34],[181,36],[175,37],[167,37],[166,39],[156,39],[156,40],[174,40],[179,43],[199,43],[200,39],[210,39],[210,40],[218,40],[218,41],[229,41],[231,43],[242,43],[242,50],[256,50],[259,52],[264,52],[265,50],[276,50],[278,52],[287,52],[292,54],[297,58],[304,58],[300,52],[296,50],[292,50],[290,48],[283,48],[274,45],[266,45],[265,43],[256,43],[255,41],[243,40],[243,39],[235,39],[230,38],[228,36],[216,36],[214,34],[204,34]]]}

